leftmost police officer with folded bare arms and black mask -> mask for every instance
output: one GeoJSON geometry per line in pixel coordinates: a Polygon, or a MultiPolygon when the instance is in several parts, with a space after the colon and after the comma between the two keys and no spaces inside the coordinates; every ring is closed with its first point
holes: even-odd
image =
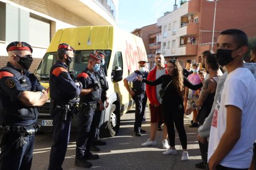
{"type": "Polygon", "coordinates": [[[0,169],[30,169],[38,107],[48,100],[47,90],[28,71],[32,47],[11,42],[7,67],[0,69],[0,169]]]}

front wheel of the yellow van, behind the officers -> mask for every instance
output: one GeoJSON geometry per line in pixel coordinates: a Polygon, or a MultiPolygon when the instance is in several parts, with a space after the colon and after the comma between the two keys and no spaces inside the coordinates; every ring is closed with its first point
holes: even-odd
{"type": "Polygon", "coordinates": [[[120,127],[120,110],[116,109],[116,105],[113,103],[109,111],[108,119],[108,134],[107,136],[116,136],[120,127]]]}

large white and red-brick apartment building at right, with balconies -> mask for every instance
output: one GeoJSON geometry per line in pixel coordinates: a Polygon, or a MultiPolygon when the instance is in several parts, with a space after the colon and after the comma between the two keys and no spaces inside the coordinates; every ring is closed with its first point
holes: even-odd
{"type": "Polygon", "coordinates": [[[249,37],[255,36],[255,7],[255,0],[190,0],[158,18],[161,48],[157,52],[161,52],[166,60],[179,59],[182,66],[187,59],[200,62],[202,52],[211,49],[212,37],[213,51],[216,51],[216,41],[223,30],[237,28],[249,37]]]}

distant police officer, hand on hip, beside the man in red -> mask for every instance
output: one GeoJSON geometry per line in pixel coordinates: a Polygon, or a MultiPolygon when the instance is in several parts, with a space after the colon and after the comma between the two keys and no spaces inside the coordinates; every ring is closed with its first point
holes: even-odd
{"type": "Polygon", "coordinates": [[[148,71],[146,71],[146,67],[147,62],[140,61],[139,70],[134,71],[134,73],[124,79],[124,86],[126,86],[127,91],[132,95],[132,99],[135,101],[134,132],[136,136],[142,136],[141,132],[146,132],[142,129],[142,119],[147,104],[147,95],[145,93],[146,84],[137,80],[137,76],[147,79],[148,71]],[[132,82],[132,89],[130,89],[128,82],[132,82]]]}

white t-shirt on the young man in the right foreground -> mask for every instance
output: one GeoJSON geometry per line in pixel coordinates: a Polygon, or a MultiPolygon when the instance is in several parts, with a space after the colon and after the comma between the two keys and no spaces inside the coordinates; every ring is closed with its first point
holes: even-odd
{"type": "Polygon", "coordinates": [[[242,110],[241,137],[220,164],[229,168],[249,168],[256,139],[256,82],[247,68],[237,68],[226,78],[211,122],[208,161],[226,130],[226,105],[234,105],[242,110]]]}

